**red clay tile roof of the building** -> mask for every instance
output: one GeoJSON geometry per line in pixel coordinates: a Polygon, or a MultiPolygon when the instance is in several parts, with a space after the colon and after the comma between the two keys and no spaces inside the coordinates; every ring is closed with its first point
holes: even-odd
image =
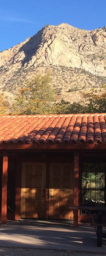
{"type": "Polygon", "coordinates": [[[106,113],[0,116],[1,142],[106,142],[106,113]]]}

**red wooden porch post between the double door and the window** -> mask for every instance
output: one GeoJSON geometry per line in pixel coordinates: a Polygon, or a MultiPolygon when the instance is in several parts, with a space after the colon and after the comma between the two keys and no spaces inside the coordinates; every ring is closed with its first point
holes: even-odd
{"type": "MultiPolygon", "coordinates": [[[[79,152],[74,152],[74,206],[79,205],[79,152]]],[[[78,227],[78,210],[74,210],[74,227],[78,227]]]]}

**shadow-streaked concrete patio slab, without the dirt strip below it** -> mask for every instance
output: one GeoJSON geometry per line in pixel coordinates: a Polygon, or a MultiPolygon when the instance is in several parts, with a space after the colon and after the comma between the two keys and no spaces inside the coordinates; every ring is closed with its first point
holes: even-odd
{"type": "Polygon", "coordinates": [[[73,228],[69,221],[7,221],[0,226],[0,247],[106,253],[106,238],[97,247],[95,228],[89,224],[73,228]]]}

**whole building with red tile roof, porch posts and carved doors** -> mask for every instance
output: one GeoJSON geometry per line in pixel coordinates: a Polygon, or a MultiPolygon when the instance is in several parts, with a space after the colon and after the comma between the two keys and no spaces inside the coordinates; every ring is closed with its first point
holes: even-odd
{"type": "Polygon", "coordinates": [[[106,206],[106,114],[1,116],[0,201],[2,224],[106,206]]]}

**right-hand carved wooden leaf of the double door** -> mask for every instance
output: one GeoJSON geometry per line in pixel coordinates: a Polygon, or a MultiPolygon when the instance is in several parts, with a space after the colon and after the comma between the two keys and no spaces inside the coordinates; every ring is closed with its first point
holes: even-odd
{"type": "Polygon", "coordinates": [[[49,219],[73,219],[73,164],[50,163],[49,219]]]}

